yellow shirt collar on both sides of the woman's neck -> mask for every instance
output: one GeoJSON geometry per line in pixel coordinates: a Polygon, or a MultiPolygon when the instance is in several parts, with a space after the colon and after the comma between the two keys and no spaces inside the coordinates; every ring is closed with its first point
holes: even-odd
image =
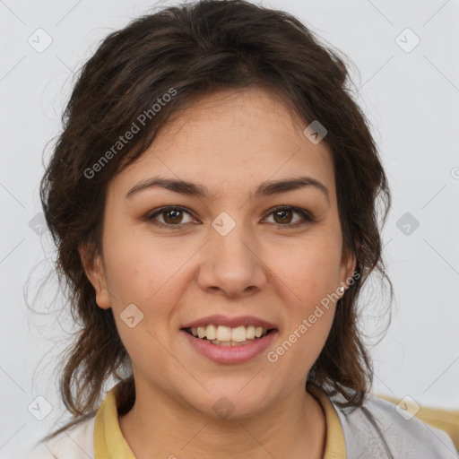
{"type": "MultiPolygon", "coordinates": [[[[324,391],[311,392],[325,411],[326,440],[324,459],[346,459],[346,446],[336,411],[324,391]]],[[[95,459],[135,459],[134,453],[119,428],[117,386],[111,389],[100,405],[94,424],[95,459]]]]}

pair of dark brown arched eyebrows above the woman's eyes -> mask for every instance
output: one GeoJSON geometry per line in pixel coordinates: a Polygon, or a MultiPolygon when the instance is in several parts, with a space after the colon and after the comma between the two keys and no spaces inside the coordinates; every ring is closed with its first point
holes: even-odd
{"type": "MultiPolygon", "coordinates": [[[[133,186],[126,194],[126,198],[130,198],[145,189],[149,189],[155,186],[166,188],[180,195],[196,196],[204,199],[212,198],[213,196],[206,186],[188,182],[186,180],[155,177],[133,186]]],[[[286,193],[288,191],[306,188],[309,186],[312,186],[323,193],[328,204],[330,204],[330,195],[328,193],[327,187],[322,182],[312,177],[287,178],[283,180],[265,181],[260,186],[258,186],[258,188],[256,188],[253,196],[257,199],[261,199],[266,196],[286,193]]]]}

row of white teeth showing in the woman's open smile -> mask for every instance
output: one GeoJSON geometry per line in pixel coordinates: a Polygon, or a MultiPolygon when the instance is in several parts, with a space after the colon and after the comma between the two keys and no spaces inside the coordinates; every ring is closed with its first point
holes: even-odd
{"type": "Polygon", "coordinates": [[[230,328],[222,325],[188,327],[183,330],[196,339],[210,342],[217,346],[244,346],[263,339],[267,334],[275,332],[275,328],[266,329],[261,326],[238,326],[230,328]]]}

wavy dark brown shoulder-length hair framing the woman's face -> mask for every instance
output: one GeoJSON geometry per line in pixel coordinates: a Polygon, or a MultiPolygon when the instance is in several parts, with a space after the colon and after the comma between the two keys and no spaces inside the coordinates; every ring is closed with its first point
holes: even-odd
{"type": "Polygon", "coordinates": [[[60,378],[74,420],[46,439],[92,416],[108,377],[119,380],[118,412],[134,404],[129,356],[112,310],[96,304],[79,255],[82,244],[92,256],[100,252],[108,182],[139,158],[179,109],[214,91],[247,87],[275,92],[305,126],[319,120],[328,132],[324,142],[333,155],[342,249],[355,255],[359,275],[338,302],[308,381],[328,394],[342,394],[345,406],[361,405],[373,369],[359,333],[357,299],[374,270],[390,284],[377,205],[383,204],[384,224],[390,192],[368,120],[352,97],[346,57],[340,54],[289,13],[243,0],[204,0],[130,22],[108,35],[82,66],[40,186],[57,247],[56,270],[80,326],[60,378]],[[171,89],[175,96],[166,99],[171,89]],[[161,100],[168,102],[153,114],[153,104],[161,100]],[[140,131],[114,152],[120,135],[133,123],[140,126],[139,116],[148,110],[140,131]],[[110,149],[113,154],[107,155],[110,149]]]}

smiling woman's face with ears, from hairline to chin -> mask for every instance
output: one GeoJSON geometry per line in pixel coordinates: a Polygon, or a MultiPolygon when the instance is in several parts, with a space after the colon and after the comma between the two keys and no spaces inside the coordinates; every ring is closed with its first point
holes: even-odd
{"type": "Polygon", "coordinates": [[[111,180],[87,273],[137,389],[212,417],[219,403],[244,417],[304,392],[355,268],[342,257],[331,154],[306,126],[267,92],[215,93],[111,180]],[[269,333],[254,337],[258,327],[269,333]]]}

